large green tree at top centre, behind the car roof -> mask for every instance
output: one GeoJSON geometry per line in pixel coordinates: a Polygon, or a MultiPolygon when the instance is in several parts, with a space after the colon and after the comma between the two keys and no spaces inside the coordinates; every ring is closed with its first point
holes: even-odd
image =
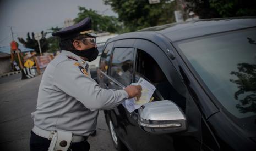
{"type": "Polygon", "coordinates": [[[126,31],[175,22],[173,10],[176,2],[160,1],[157,4],[149,4],[148,0],[104,0],[104,2],[111,5],[113,11],[118,14],[126,31]]]}

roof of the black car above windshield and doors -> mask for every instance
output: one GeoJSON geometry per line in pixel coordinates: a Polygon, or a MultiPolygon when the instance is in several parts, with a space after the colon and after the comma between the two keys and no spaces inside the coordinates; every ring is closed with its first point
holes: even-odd
{"type": "Polygon", "coordinates": [[[149,27],[136,32],[121,34],[121,36],[112,38],[111,41],[127,38],[146,38],[145,36],[155,34],[155,32],[157,32],[164,34],[172,42],[174,42],[177,40],[250,27],[256,27],[256,17],[195,20],[149,27]],[[145,34],[144,32],[148,32],[149,34],[145,34]]]}

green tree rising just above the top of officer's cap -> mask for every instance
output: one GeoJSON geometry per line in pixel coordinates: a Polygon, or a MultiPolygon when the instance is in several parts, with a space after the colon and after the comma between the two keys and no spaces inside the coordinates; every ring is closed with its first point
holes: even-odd
{"type": "Polygon", "coordinates": [[[92,19],[92,30],[96,32],[110,32],[116,33],[121,28],[121,24],[115,16],[103,16],[98,14],[95,10],[86,9],[85,7],[78,7],[78,17],[74,19],[75,23],[90,16],[92,19]]]}

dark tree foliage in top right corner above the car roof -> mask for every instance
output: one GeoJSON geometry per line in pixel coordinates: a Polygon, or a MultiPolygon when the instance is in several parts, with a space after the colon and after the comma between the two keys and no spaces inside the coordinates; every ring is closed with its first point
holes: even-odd
{"type": "Polygon", "coordinates": [[[201,19],[235,16],[255,16],[255,0],[185,0],[186,9],[201,19]]]}

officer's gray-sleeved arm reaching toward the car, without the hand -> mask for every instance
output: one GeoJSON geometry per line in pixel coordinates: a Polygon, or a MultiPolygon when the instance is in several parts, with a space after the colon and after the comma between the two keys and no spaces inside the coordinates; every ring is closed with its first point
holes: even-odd
{"type": "Polygon", "coordinates": [[[59,63],[53,75],[53,84],[57,90],[76,98],[86,108],[111,109],[129,97],[124,90],[100,88],[95,80],[85,75],[74,63],[72,60],[59,63]]]}

